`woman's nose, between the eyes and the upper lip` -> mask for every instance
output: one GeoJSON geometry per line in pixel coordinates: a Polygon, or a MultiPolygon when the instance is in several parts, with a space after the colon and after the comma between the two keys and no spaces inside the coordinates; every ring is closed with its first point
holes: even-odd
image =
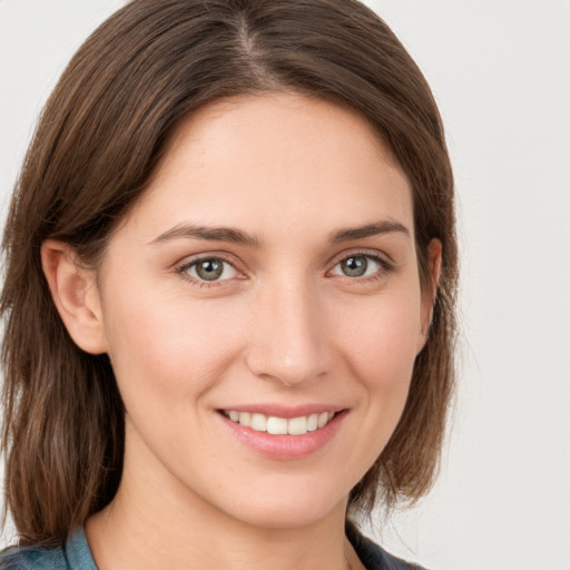
{"type": "Polygon", "coordinates": [[[250,326],[246,362],[256,376],[293,387],[331,371],[331,327],[322,301],[308,286],[267,287],[256,299],[250,326]]]}

